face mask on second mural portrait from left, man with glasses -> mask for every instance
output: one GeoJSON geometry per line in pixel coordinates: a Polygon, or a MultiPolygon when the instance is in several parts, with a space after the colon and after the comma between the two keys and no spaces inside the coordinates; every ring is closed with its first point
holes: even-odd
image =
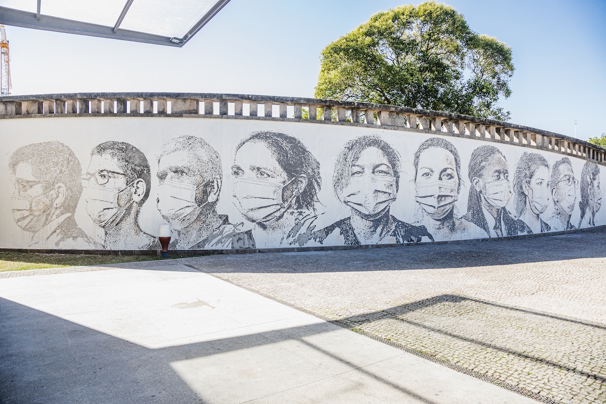
{"type": "Polygon", "coordinates": [[[134,202],[131,199],[127,206],[121,208],[118,205],[118,195],[133,184],[135,182],[131,182],[121,190],[102,185],[87,184],[84,187],[86,191],[86,212],[93,220],[93,223],[99,227],[108,227],[118,223],[126,213],[128,206],[134,202]]]}

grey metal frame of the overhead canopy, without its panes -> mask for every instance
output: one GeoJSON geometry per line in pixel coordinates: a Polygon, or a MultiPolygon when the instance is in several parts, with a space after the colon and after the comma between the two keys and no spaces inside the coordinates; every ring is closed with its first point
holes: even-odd
{"type": "Polygon", "coordinates": [[[213,18],[221,8],[230,0],[218,0],[208,12],[191,27],[182,38],[170,38],[168,36],[155,35],[140,31],[123,30],[120,24],[128,13],[128,9],[134,0],[126,0],[122,12],[116,20],[113,27],[106,25],[90,24],[88,22],[75,21],[59,17],[47,16],[40,13],[41,0],[38,0],[36,13],[15,10],[14,8],[0,6],[0,24],[12,25],[14,27],[34,28],[37,30],[64,32],[76,35],[98,36],[100,38],[121,39],[122,41],[144,42],[145,44],[167,45],[182,47],[192,36],[204,27],[211,18],[213,18]]]}

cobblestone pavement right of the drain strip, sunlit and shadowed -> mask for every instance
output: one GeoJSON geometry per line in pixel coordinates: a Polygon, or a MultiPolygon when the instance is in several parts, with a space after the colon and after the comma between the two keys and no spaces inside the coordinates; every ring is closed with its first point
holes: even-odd
{"type": "Polygon", "coordinates": [[[185,261],[546,399],[606,402],[606,230],[185,261]]]}

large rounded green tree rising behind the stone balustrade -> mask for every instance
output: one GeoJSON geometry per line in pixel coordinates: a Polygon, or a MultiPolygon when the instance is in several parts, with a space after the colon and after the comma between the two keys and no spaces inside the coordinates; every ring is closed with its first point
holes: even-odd
{"type": "Polygon", "coordinates": [[[379,12],[324,48],[316,98],[510,118],[511,48],[445,4],[379,12]]]}

